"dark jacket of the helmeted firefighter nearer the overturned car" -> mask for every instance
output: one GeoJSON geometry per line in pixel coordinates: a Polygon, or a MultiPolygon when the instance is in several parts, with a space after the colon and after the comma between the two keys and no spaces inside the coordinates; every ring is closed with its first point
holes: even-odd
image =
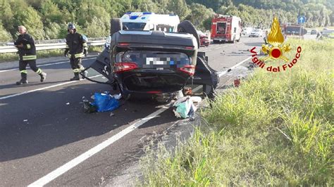
{"type": "Polygon", "coordinates": [[[87,41],[82,37],[82,34],[78,32],[67,34],[65,53],[69,53],[70,56],[75,58],[81,58],[84,56],[84,49],[87,49],[87,41]]]}

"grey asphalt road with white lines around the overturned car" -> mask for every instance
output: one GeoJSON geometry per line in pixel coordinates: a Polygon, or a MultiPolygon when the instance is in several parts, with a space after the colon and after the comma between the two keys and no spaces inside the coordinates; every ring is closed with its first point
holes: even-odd
{"type": "MultiPolygon", "coordinates": [[[[247,65],[247,50],[262,43],[262,38],[245,37],[201,51],[206,51],[211,67],[224,72],[248,58],[247,65]]],[[[87,58],[83,65],[93,61],[87,58]]],[[[111,87],[87,80],[69,82],[73,73],[66,58],[39,60],[39,65],[47,72],[46,82],[28,70],[30,84],[16,86],[18,63],[0,64],[0,186],[40,184],[35,183],[39,179],[46,186],[97,186],[140,157],[142,137],[178,122],[171,109],[147,101],[122,101],[113,116],[86,114],[82,96],[90,98],[111,87]]],[[[228,80],[223,75],[220,87],[228,80]]]]}

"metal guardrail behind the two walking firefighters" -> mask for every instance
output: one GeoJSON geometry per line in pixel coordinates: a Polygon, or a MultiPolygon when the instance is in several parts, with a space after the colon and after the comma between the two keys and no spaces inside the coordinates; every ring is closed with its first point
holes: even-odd
{"type": "MultiPolygon", "coordinates": [[[[88,39],[88,46],[103,46],[106,38],[88,39]]],[[[36,41],[36,51],[50,49],[65,49],[66,43],[64,39],[40,40],[36,41]]],[[[0,53],[16,53],[18,49],[13,46],[13,43],[7,43],[7,46],[0,46],[0,53]]]]}

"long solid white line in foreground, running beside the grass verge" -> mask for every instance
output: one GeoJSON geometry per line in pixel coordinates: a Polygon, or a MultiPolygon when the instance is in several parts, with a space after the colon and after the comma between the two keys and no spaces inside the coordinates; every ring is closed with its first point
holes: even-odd
{"type": "Polygon", "coordinates": [[[95,146],[94,148],[91,148],[87,150],[85,153],[82,153],[80,156],[75,157],[73,160],[70,160],[70,162],[67,162],[65,165],[62,165],[61,167],[58,167],[53,172],[43,176],[41,179],[38,179],[37,181],[31,183],[28,186],[44,186],[50,181],[53,181],[58,176],[61,176],[68,170],[72,169],[76,165],[79,165],[81,162],[84,162],[89,157],[92,157],[92,155],[95,155],[96,153],[99,153],[99,151],[103,150],[104,148],[110,146],[115,141],[118,141],[120,138],[125,136],[126,134],[129,134],[131,131],[137,129],[137,127],[140,127],[145,122],[151,120],[154,117],[157,117],[161,112],[167,110],[167,107],[160,108],[159,110],[156,110],[156,112],[151,113],[147,117],[142,118],[142,120],[135,122],[135,124],[130,125],[123,131],[118,132],[118,134],[111,136],[111,138],[108,138],[106,141],[99,143],[99,145],[95,146]]]}

